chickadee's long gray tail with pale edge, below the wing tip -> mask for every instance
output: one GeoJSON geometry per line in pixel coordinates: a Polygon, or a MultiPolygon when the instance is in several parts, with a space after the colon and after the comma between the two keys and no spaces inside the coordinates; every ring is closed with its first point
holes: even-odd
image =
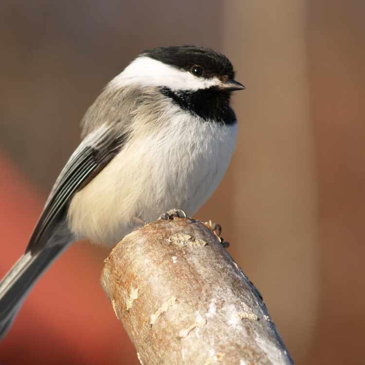
{"type": "Polygon", "coordinates": [[[53,245],[21,256],[0,282],[0,342],[10,328],[25,297],[68,244],[53,245]]]}

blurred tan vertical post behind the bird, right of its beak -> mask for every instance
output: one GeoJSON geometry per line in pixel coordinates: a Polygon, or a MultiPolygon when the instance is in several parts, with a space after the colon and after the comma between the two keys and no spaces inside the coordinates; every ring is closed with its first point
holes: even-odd
{"type": "Polygon", "coordinates": [[[223,14],[224,52],[247,87],[234,103],[239,138],[229,170],[240,236],[230,239],[244,244],[230,250],[265,293],[294,359],[303,358],[318,294],[306,1],[232,0],[223,14]]]}

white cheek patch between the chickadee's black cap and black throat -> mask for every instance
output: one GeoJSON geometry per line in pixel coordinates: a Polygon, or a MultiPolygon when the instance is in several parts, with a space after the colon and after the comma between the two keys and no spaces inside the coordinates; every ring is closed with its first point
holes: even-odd
{"type": "Polygon", "coordinates": [[[114,77],[108,87],[121,88],[127,85],[167,87],[171,90],[196,91],[217,86],[218,77],[209,79],[197,77],[188,71],[178,70],[147,56],[141,56],[131,62],[122,73],[114,77]]]}

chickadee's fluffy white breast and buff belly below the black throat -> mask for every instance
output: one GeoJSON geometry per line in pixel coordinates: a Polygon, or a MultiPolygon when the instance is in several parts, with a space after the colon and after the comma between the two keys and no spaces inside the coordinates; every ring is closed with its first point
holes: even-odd
{"type": "Polygon", "coordinates": [[[73,197],[72,231],[113,245],[135,227],[133,217],[151,221],[172,208],[194,214],[222,179],[236,134],[236,124],[219,125],[179,111],[157,132],[132,137],[73,197]]]}

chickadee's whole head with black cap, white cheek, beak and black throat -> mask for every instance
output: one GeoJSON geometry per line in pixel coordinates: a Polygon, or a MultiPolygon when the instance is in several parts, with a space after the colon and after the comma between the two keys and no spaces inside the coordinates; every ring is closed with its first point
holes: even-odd
{"type": "Polygon", "coordinates": [[[230,125],[236,123],[231,91],[245,89],[234,76],[229,59],[210,48],[157,47],[134,59],[110,82],[109,90],[158,92],[193,116],[230,125]]]}

